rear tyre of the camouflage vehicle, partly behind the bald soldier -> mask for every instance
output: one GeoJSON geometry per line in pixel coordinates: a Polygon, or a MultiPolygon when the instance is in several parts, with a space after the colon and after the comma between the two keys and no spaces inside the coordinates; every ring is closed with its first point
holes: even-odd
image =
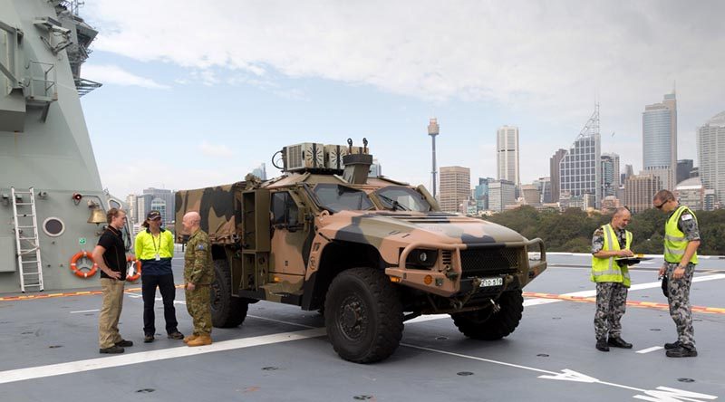
{"type": "Polygon", "coordinates": [[[238,327],[247,318],[247,299],[232,297],[231,272],[226,259],[214,260],[214,282],[211,283],[211,323],[217,328],[238,327]]]}

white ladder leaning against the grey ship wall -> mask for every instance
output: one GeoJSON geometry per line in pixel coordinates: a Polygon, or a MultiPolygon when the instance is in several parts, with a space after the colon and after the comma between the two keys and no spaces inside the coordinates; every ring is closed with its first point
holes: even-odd
{"type": "Polygon", "coordinates": [[[17,266],[20,270],[20,291],[25,288],[38,288],[43,291],[43,263],[40,260],[40,239],[38,238],[38,220],[35,215],[35,194],[33,187],[28,191],[15,191],[10,187],[13,198],[13,217],[15,225],[15,247],[17,266]],[[27,196],[27,200],[25,198],[27,196]],[[30,213],[18,213],[18,209],[30,213]],[[24,247],[24,248],[23,248],[24,247]]]}

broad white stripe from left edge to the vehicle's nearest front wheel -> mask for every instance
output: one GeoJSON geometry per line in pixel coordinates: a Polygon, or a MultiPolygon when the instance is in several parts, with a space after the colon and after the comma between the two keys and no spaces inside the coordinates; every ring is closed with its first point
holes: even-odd
{"type": "Polygon", "coordinates": [[[223,340],[220,342],[214,342],[208,346],[199,346],[196,348],[182,346],[179,348],[122,354],[108,358],[78,360],[67,363],[51,364],[48,366],[31,367],[27,369],[6,370],[0,371],[0,384],[24,381],[26,379],[61,376],[63,374],[73,374],[82,371],[129,366],[131,364],[146,363],[149,361],[183,358],[224,350],[251,348],[254,346],[269,345],[272,343],[288,342],[290,340],[305,340],[324,335],[324,328],[316,328],[314,330],[276,333],[272,335],[244,338],[241,340],[223,340]]]}

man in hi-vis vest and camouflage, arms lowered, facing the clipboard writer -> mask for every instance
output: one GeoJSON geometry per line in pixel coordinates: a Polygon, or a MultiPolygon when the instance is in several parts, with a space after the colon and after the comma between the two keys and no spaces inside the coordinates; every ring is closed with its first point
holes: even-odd
{"type": "Polygon", "coordinates": [[[695,357],[697,349],[692,328],[690,286],[700,247],[697,217],[687,206],[680,206],[668,190],[657,192],[652,206],[668,214],[664,225],[664,264],[660,268],[660,276],[667,277],[667,302],[677,327],[677,340],[665,343],[664,349],[670,358],[695,357]]]}

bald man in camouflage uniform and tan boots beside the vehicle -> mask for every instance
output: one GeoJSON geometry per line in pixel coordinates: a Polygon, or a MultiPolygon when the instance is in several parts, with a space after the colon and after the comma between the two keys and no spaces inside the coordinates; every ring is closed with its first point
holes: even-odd
{"type": "Polygon", "coordinates": [[[184,215],[182,224],[188,233],[184,254],[184,282],[187,310],[194,321],[194,332],[184,338],[189,346],[211,344],[211,302],[209,285],[214,282],[214,265],[208,235],[199,228],[201,216],[197,212],[184,215]]]}

